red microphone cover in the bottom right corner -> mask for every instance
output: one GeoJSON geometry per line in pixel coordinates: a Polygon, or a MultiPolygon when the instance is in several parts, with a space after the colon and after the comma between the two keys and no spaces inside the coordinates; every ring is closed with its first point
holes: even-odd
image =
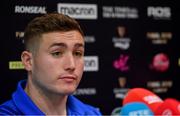
{"type": "Polygon", "coordinates": [[[167,98],[154,113],[163,116],[180,115],[180,103],[176,99],[167,98]]]}

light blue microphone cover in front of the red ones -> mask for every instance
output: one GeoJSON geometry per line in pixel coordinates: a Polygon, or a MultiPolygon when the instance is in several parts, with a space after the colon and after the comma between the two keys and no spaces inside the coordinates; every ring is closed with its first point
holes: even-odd
{"type": "Polygon", "coordinates": [[[145,103],[142,102],[132,102],[127,103],[121,108],[120,116],[152,116],[154,113],[145,103]]]}

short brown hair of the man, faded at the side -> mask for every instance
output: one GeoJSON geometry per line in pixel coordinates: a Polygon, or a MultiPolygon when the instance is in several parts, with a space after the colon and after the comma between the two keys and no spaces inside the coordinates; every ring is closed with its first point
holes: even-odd
{"type": "Polygon", "coordinates": [[[80,32],[82,36],[84,33],[79,23],[67,16],[60,13],[48,13],[43,16],[34,18],[29,22],[24,33],[25,49],[35,53],[40,44],[42,34],[57,31],[72,31],[80,32]]]}

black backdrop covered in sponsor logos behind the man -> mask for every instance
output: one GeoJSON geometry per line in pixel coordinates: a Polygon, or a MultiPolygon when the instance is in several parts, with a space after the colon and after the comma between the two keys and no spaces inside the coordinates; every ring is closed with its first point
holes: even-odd
{"type": "Polygon", "coordinates": [[[1,5],[0,103],[26,79],[20,61],[24,28],[50,12],[69,15],[85,33],[83,79],[74,93],[116,114],[130,88],[144,87],[161,98],[179,100],[180,47],[177,3],[171,0],[13,0],[1,5]]]}

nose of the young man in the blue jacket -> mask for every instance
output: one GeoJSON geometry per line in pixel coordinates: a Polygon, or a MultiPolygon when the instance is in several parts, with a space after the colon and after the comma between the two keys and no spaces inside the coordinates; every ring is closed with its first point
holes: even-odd
{"type": "Polygon", "coordinates": [[[73,71],[75,69],[75,61],[73,54],[68,54],[65,57],[64,63],[65,63],[65,70],[73,71]]]}

